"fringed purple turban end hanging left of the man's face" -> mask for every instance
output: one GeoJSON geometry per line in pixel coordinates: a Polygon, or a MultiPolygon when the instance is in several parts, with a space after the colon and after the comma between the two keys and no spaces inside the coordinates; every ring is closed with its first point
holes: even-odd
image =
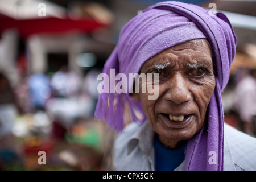
{"type": "Polygon", "coordinates": [[[104,86],[106,88],[98,96],[94,119],[108,123],[110,129],[117,132],[122,131],[130,122],[143,123],[146,121],[141,102],[135,101],[129,93],[117,93],[115,90],[115,77],[118,73],[119,61],[115,48],[104,66],[103,74],[106,76],[104,86]]]}

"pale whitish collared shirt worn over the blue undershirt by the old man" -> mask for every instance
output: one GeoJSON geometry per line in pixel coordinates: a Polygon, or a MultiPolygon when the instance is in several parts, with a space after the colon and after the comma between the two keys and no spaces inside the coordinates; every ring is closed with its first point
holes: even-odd
{"type": "MultiPolygon", "coordinates": [[[[113,166],[118,171],[154,171],[154,131],[148,122],[130,123],[115,138],[113,166]]],[[[184,161],[176,171],[184,170],[184,161]]],[[[256,139],[224,124],[224,170],[256,170],[256,139]]]]}

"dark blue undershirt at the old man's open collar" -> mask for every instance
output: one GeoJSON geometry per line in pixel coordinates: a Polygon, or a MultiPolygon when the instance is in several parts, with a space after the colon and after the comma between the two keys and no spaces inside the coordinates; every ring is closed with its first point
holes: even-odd
{"type": "Polygon", "coordinates": [[[158,135],[155,135],[155,170],[174,171],[185,159],[186,146],[187,144],[177,149],[166,148],[160,143],[158,135]]]}

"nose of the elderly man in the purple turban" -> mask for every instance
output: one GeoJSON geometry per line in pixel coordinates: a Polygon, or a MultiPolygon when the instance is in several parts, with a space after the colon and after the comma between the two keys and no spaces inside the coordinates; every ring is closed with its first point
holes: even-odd
{"type": "Polygon", "coordinates": [[[192,99],[191,92],[189,92],[187,80],[179,73],[175,73],[167,82],[168,88],[164,95],[167,101],[175,104],[183,104],[192,99]]]}

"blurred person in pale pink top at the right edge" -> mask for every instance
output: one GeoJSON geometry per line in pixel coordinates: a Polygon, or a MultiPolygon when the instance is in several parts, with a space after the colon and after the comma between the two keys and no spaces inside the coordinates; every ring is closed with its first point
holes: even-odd
{"type": "Polygon", "coordinates": [[[242,131],[256,136],[256,69],[251,69],[238,83],[233,107],[239,114],[242,131]]]}

